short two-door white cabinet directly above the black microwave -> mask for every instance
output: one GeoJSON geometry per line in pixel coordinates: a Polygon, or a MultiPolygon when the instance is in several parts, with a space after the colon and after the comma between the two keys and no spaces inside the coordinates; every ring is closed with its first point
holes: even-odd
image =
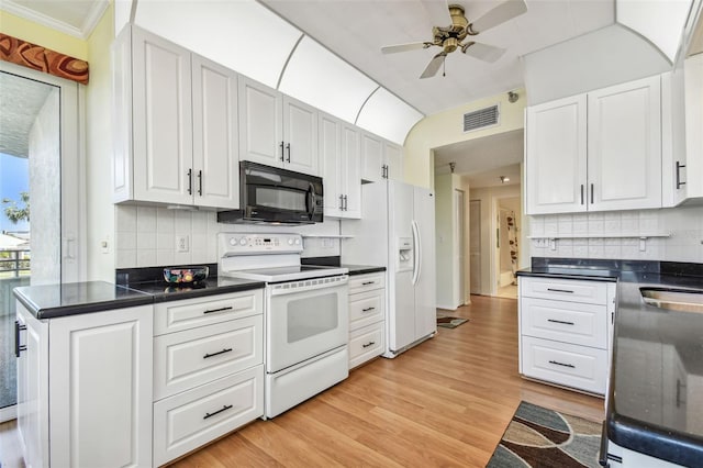
{"type": "Polygon", "coordinates": [[[239,80],[239,159],[317,175],[317,111],[250,79],[239,80]]]}

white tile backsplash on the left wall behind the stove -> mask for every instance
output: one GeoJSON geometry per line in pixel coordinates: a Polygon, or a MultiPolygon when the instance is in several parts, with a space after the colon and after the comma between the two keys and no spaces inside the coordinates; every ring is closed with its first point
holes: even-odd
{"type": "MultiPolygon", "coordinates": [[[[220,232],[298,232],[338,235],[337,220],[305,226],[220,224],[214,211],[169,210],[153,205],[116,205],[115,268],[217,263],[220,232]],[[179,252],[177,237],[186,237],[187,250],[179,252]]],[[[339,254],[339,239],[305,237],[304,257],[339,254]]]]}

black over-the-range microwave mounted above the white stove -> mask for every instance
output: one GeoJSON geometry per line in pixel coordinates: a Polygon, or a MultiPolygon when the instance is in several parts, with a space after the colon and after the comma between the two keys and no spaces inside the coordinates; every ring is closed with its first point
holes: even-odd
{"type": "Polygon", "coordinates": [[[239,163],[241,210],[220,211],[220,223],[311,224],[323,221],[322,177],[258,163],[239,163]]]}

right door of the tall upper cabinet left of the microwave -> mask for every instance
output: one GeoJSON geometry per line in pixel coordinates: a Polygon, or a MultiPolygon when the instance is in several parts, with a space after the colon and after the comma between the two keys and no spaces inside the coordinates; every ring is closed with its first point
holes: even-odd
{"type": "Polygon", "coordinates": [[[192,56],[193,192],[201,207],[239,207],[237,74],[192,56]]]}

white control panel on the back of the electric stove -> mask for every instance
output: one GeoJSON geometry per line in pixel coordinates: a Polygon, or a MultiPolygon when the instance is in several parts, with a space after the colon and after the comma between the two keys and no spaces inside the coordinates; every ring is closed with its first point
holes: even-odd
{"type": "Polygon", "coordinates": [[[303,252],[300,234],[220,233],[217,244],[221,256],[303,252]]]}

